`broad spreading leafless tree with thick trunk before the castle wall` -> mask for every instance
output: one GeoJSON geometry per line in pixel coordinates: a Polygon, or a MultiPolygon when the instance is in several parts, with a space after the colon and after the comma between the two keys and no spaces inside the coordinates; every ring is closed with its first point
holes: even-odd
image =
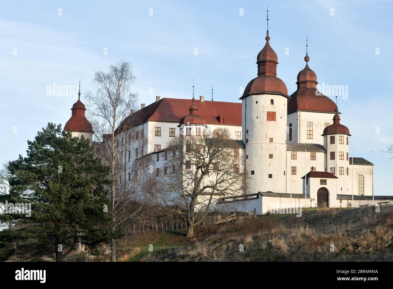
{"type": "Polygon", "coordinates": [[[156,201],[185,221],[187,237],[193,237],[194,227],[219,197],[246,191],[248,177],[240,147],[224,128],[202,136],[178,136],[168,143],[156,201]]]}

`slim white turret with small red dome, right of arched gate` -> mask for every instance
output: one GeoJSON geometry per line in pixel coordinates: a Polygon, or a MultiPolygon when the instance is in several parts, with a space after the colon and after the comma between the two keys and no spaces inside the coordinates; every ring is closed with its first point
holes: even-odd
{"type": "Polygon", "coordinates": [[[340,116],[333,117],[333,124],[323,130],[323,143],[326,149],[326,170],[338,177],[337,193],[349,193],[349,129],[340,123],[340,116]]]}

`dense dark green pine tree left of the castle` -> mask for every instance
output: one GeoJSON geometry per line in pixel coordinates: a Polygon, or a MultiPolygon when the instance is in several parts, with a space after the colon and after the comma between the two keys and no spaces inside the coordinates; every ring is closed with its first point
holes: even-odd
{"type": "Polygon", "coordinates": [[[19,155],[8,169],[10,190],[1,202],[28,203],[31,211],[9,214],[18,213],[9,205],[8,214],[0,215],[13,223],[0,232],[1,260],[15,255],[63,261],[78,242],[89,247],[108,242],[108,169],[90,140],[62,135],[61,125],[48,123],[28,141],[27,156],[19,155]]]}

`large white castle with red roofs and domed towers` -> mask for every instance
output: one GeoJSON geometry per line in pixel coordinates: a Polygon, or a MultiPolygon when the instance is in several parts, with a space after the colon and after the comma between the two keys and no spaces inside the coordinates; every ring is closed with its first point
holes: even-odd
{"type": "MultiPolygon", "coordinates": [[[[277,54],[269,40],[267,31],[266,44],[257,56],[257,77],[246,86],[242,103],[213,101],[213,96],[211,101],[204,96],[192,101],[157,96],[154,103],[132,111],[130,117],[138,113],[141,119],[136,130],[147,142],[125,148],[124,181],[132,161],[146,154],[158,155],[155,169],[157,175],[163,173],[164,157],[160,155],[182,131],[198,135],[198,126],[210,130],[225,127],[239,146],[250,185],[238,197],[217,197],[216,209],[230,204],[233,209],[264,214],[288,204],[298,208],[390,202],[393,196],[373,196],[373,164],[350,156],[349,129],[340,123],[341,112],[334,101],[317,90],[308,53],[306,66],[297,77],[298,88],[289,96],[285,83],[277,77],[277,54]]],[[[92,127],[84,110],[78,100],[64,130],[91,138],[92,127]]]]}

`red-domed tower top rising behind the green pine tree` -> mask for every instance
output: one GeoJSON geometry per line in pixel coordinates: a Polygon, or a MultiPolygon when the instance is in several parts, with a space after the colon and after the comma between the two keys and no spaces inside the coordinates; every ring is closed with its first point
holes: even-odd
{"type": "Polygon", "coordinates": [[[79,92],[78,92],[78,100],[72,105],[72,113],[71,118],[67,121],[66,125],[64,125],[64,132],[71,131],[72,136],[84,136],[89,140],[92,140],[93,136],[93,127],[91,123],[84,116],[85,106],[81,101],[81,83],[79,81],[79,92]]]}

